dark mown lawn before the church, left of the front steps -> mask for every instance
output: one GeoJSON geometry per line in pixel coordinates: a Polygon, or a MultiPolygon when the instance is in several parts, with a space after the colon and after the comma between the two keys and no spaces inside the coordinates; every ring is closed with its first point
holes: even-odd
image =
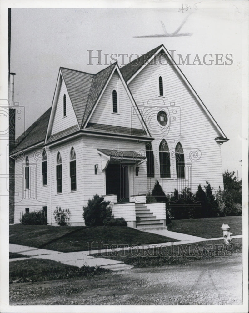
{"type": "Polygon", "coordinates": [[[57,227],[16,224],[9,227],[10,244],[73,252],[88,250],[87,241],[93,241],[92,248],[97,248],[97,241],[102,241],[102,249],[105,249],[103,245],[130,246],[177,240],[125,226],[57,227]]]}

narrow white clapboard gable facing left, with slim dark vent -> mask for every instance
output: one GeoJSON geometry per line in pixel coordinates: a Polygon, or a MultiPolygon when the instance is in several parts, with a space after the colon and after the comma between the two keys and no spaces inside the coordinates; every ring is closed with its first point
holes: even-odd
{"type": "Polygon", "coordinates": [[[64,129],[78,124],[75,112],[72,107],[71,100],[69,98],[66,85],[62,80],[54,120],[52,123],[51,135],[56,134],[64,129]],[[66,95],[66,116],[63,117],[63,97],[66,95]]]}

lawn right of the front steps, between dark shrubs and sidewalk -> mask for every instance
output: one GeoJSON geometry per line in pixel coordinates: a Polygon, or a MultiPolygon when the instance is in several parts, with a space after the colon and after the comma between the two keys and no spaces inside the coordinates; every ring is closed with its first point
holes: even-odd
{"type": "Polygon", "coordinates": [[[174,220],[167,226],[168,230],[177,233],[203,238],[216,238],[222,237],[222,224],[228,224],[233,235],[242,235],[242,216],[181,219],[174,220]]]}

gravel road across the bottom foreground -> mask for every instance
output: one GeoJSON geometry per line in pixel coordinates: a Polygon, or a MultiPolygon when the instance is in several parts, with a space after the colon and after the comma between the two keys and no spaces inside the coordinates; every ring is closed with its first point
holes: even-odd
{"type": "Polygon", "coordinates": [[[11,284],[10,305],[242,305],[242,254],[83,279],[11,284]]]}

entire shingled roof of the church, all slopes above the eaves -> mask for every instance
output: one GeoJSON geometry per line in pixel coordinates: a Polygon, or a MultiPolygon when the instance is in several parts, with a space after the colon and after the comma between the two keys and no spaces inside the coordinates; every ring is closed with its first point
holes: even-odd
{"type": "MultiPolygon", "coordinates": [[[[123,66],[120,70],[124,79],[127,81],[129,78],[131,78],[132,75],[135,74],[142,67],[142,65],[145,64],[145,62],[162,46],[163,45],[160,45],[157,48],[152,49],[146,54],[143,54],[138,59],[133,60],[131,63],[123,66]]],[[[67,87],[68,95],[72,102],[77,121],[81,128],[84,126],[89,114],[92,112],[99,95],[101,94],[109,76],[112,73],[113,66],[116,64],[116,62],[111,64],[97,74],[60,67],[63,80],[65,81],[67,87]]],[[[35,121],[25,131],[25,133],[23,133],[22,136],[17,139],[16,148],[18,147],[23,149],[45,140],[50,112],[51,108],[48,109],[41,117],[39,117],[38,120],[35,121]]],[[[89,127],[90,124],[88,124],[87,126],[88,129],[97,127],[99,130],[102,128],[102,131],[106,131],[106,129],[103,129],[103,127],[99,127],[97,125],[91,125],[91,127],[89,127]]],[[[73,126],[73,131],[76,131],[75,126],[73,126]]],[[[111,129],[108,129],[108,131],[111,131],[111,129]]],[[[119,131],[121,131],[121,129],[119,131]]],[[[123,131],[124,129],[122,129],[122,133],[123,131]]],[[[124,133],[127,133],[127,131],[131,132],[129,129],[124,133]]],[[[135,130],[133,130],[133,132],[134,131],[135,130]]],[[[144,133],[137,134],[137,130],[135,133],[137,136],[145,136],[144,133]]],[[[63,134],[60,135],[63,136],[63,134]]],[[[55,137],[58,136],[53,136],[53,138],[50,138],[49,141],[51,141],[51,139],[54,140],[55,137]]]]}

